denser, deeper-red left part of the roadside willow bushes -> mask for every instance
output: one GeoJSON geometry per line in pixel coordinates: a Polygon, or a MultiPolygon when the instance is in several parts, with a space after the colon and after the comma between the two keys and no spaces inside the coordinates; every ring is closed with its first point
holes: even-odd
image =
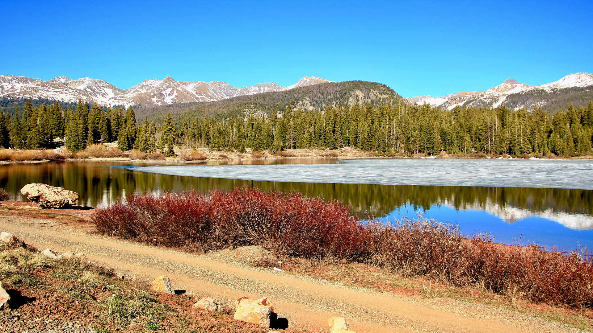
{"type": "Polygon", "coordinates": [[[337,201],[237,189],[129,196],[93,217],[101,232],[151,244],[208,249],[266,245],[283,255],[359,259],[364,227],[337,201]]]}

